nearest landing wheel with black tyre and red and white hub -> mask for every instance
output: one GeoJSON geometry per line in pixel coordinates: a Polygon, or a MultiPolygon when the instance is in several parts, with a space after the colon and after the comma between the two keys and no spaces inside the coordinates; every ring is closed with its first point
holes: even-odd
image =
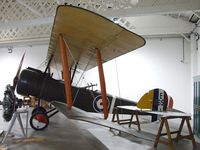
{"type": "Polygon", "coordinates": [[[30,118],[30,125],[36,131],[44,130],[49,125],[49,118],[41,111],[35,112],[30,118]]]}

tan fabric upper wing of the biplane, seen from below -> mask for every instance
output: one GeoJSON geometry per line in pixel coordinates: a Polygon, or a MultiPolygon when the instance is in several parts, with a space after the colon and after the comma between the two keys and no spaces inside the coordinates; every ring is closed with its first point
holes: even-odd
{"type": "Polygon", "coordinates": [[[145,44],[141,36],[94,12],[74,6],[59,6],[48,48],[48,58],[53,54],[58,64],[61,64],[60,33],[70,49],[70,66],[78,62],[81,70],[96,66],[95,48],[101,50],[103,62],[106,62],[145,44]]]}

